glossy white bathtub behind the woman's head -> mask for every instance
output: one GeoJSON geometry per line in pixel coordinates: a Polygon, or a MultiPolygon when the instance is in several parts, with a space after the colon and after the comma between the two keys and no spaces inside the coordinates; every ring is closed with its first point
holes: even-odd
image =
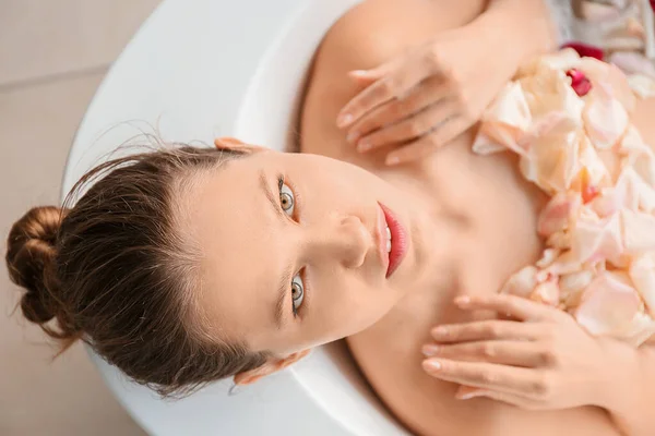
{"type": "MultiPolygon", "coordinates": [[[[153,126],[167,141],[215,136],[282,149],[312,55],[358,0],[167,0],[99,87],[78,131],[62,195],[118,145],[153,126]],[[150,125],[147,125],[150,124],[150,125]]],[[[104,379],[152,435],[403,435],[343,342],[228,396],[216,383],[163,401],[92,351],[104,379]]]]}

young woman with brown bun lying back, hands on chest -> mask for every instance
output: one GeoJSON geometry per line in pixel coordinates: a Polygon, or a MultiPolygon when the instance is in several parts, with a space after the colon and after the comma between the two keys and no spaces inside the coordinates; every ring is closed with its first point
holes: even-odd
{"type": "MultiPolygon", "coordinates": [[[[317,53],[301,154],[219,140],[215,150],[127,157],[87,174],[79,186],[94,183],[74,206],[19,220],[7,262],[27,291],[23,314],[165,395],[228,376],[253,383],[348,337],[373,388],[417,434],[651,434],[651,349],[593,338],[560,311],[496,295],[538,258],[547,196],[509,154],[473,154],[468,128],[524,58],[552,48],[546,16],[536,0],[353,9],[317,53]],[[412,77],[381,93],[369,86],[403,65],[422,74],[420,86],[403,86],[412,77]],[[380,109],[367,117],[367,105],[380,109]],[[412,129],[394,128],[398,118],[412,129]],[[457,295],[469,300],[455,305],[457,295]],[[497,313],[510,324],[495,324],[497,313]],[[508,355],[443,347],[421,365],[430,329],[456,323],[450,336],[434,332],[439,343],[466,346],[461,323],[492,326],[479,331],[552,359],[511,365],[508,355]],[[460,386],[483,397],[458,400],[460,386]]],[[[645,137],[655,135],[643,122],[650,110],[635,110],[645,137]]]]}

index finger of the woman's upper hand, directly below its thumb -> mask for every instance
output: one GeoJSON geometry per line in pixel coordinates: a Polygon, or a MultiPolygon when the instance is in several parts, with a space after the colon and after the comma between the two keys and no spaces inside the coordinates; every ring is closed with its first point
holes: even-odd
{"type": "Polygon", "coordinates": [[[353,124],[383,102],[405,95],[428,75],[427,70],[417,69],[412,62],[397,63],[393,71],[376,81],[344,106],[336,119],[336,125],[343,129],[353,124]]]}

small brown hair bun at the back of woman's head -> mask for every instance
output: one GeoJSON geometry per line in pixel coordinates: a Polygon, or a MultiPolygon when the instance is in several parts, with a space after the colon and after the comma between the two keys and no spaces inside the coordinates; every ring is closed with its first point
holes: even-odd
{"type": "Polygon", "coordinates": [[[55,262],[62,219],[59,207],[35,207],[9,232],[5,257],[9,277],[27,290],[21,300],[21,308],[33,323],[47,323],[58,312],[57,299],[52,295],[58,291],[55,262]]]}

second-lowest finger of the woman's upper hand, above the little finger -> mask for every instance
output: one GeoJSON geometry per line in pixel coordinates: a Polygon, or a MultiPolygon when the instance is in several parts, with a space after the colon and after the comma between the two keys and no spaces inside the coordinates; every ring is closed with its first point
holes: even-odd
{"type": "Polygon", "coordinates": [[[453,101],[438,101],[397,124],[391,124],[362,137],[357,143],[357,150],[368,152],[388,144],[397,144],[420,137],[442,123],[455,110],[456,106],[453,101]]]}

